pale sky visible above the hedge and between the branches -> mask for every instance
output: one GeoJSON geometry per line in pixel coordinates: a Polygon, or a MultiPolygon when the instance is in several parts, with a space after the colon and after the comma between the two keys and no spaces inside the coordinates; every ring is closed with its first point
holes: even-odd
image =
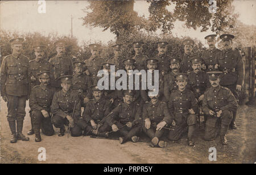
{"type": "MultiPolygon", "coordinates": [[[[46,13],[38,12],[38,1],[0,1],[0,27],[2,30],[22,32],[40,32],[43,35],[57,33],[68,36],[71,34],[71,15],[73,16],[73,36],[86,43],[102,41],[108,43],[115,40],[115,35],[109,30],[102,31],[100,27],[82,26],[84,7],[87,1],[46,1],[46,13]]],[[[256,1],[234,0],[235,12],[240,14],[244,24],[256,26],[256,1]]],[[[134,10],[139,15],[148,17],[148,3],[146,1],[135,1],[134,10]]],[[[204,37],[211,31],[200,32],[184,27],[183,22],[175,22],[172,30],[174,36],[191,36],[204,42],[204,37]]]]}

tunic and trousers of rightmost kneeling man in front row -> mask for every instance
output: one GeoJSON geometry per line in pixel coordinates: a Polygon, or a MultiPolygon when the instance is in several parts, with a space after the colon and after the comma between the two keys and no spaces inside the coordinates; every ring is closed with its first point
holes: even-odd
{"type": "Polygon", "coordinates": [[[216,88],[210,87],[204,93],[203,99],[203,112],[208,116],[206,128],[205,128],[205,139],[210,140],[214,138],[217,132],[216,124],[218,119],[221,121],[220,135],[224,136],[228,131],[228,126],[232,121],[233,111],[236,111],[238,107],[236,98],[232,92],[226,88],[218,86],[216,88]],[[209,111],[215,112],[214,116],[210,116],[209,111]],[[222,110],[222,115],[217,118],[216,114],[222,110]]]}

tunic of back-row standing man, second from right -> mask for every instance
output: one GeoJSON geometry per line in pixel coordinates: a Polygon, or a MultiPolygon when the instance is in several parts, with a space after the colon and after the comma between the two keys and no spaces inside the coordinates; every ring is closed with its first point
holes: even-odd
{"type": "Polygon", "coordinates": [[[221,50],[215,48],[213,50],[208,49],[207,51],[204,51],[201,55],[201,58],[203,59],[203,64],[206,66],[205,72],[214,71],[214,67],[216,65],[215,56],[218,52],[221,52],[221,50]]]}

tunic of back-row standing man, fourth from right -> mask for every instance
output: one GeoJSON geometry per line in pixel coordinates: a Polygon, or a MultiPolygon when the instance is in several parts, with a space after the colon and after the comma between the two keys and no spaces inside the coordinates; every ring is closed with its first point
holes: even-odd
{"type": "Polygon", "coordinates": [[[156,55],[154,57],[155,59],[158,59],[158,70],[159,73],[161,73],[163,76],[167,73],[170,73],[170,62],[168,61],[170,57],[168,57],[166,54],[164,55],[156,55]]]}

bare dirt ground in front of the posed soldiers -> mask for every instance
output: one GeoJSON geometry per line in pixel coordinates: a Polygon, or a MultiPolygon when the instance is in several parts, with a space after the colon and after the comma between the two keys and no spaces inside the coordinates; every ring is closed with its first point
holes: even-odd
{"type": "MultiPolygon", "coordinates": [[[[26,112],[28,114],[28,104],[26,112]]],[[[6,119],[6,103],[1,103],[1,163],[254,163],[256,161],[255,107],[242,106],[238,112],[238,130],[229,131],[229,144],[222,146],[219,140],[206,142],[203,130],[197,130],[196,146],[186,145],[185,136],[178,142],[168,144],[165,149],[150,148],[147,143],[126,143],[117,140],[60,138],[59,130],[51,137],[42,134],[43,141],[35,143],[18,141],[11,144],[9,125],[6,119]],[[46,148],[46,161],[38,161],[38,149],[46,148]],[[209,148],[216,147],[217,161],[210,162],[209,148]]],[[[30,129],[30,117],[24,120],[23,134],[30,129]]]]}

